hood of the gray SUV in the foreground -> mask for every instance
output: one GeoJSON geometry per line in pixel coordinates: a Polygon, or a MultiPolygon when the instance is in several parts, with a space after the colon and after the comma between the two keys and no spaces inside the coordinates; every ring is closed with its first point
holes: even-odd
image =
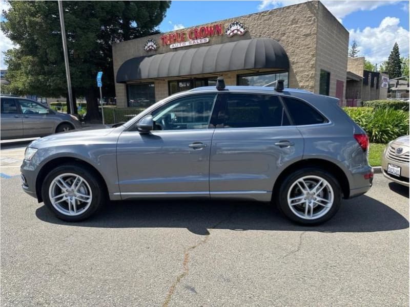
{"type": "Polygon", "coordinates": [[[100,143],[101,138],[108,136],[116,129],[118,128],[68,131],[65,133],[53,134],[31,142],[29,147],[42,148],[58,145],[100,143]]]}

